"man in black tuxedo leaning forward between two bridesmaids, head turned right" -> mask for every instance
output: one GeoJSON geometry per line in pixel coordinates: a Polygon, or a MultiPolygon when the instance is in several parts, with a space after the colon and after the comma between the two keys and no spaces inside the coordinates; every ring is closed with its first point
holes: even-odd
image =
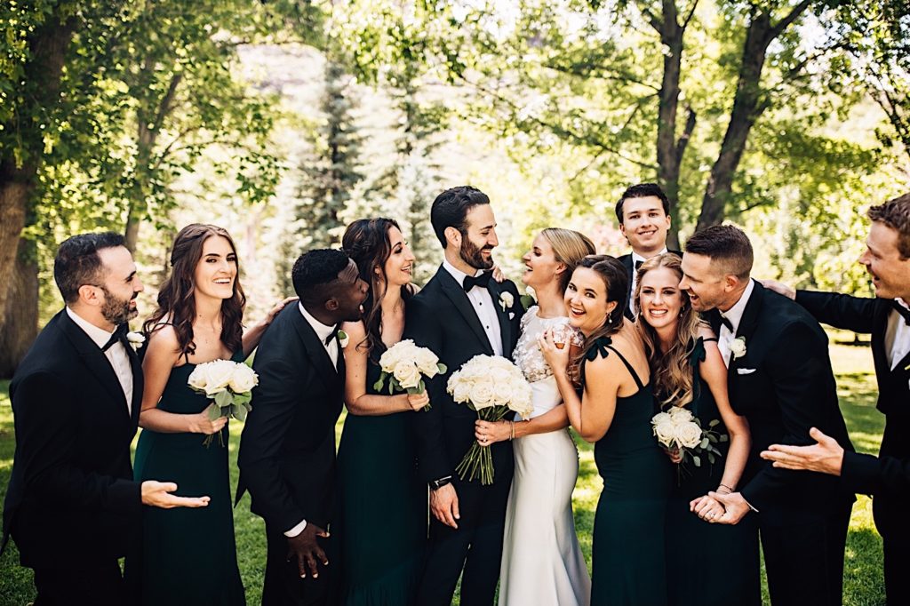
{"type": "Polygon", "coordinates": [[[238,455],[237,500],[249,490],[250,509],[266,520],[264,606],[332,603],[334,575],[318,538],[329,536],[335,489],[345,379],[339,325],[360,318],[369,288],[340,250],[309,251],[292,278],[300,301],[259,342],[259,384],[238,455]]]}

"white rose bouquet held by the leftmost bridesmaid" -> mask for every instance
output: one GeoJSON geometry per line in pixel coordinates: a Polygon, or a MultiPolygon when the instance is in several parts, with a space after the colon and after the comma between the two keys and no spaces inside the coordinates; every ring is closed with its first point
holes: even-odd
{"type": "MultiPolygon", "coordinates": [[[[187,379],[190,389],[206,394],[208,399],[215,402],[215,406],[208,410],[208,418],[211,420],[219,417],[247,419],[249,411],[253,409],[250,404],[250,400],[253,399],[252,390],[258,383],[258,375],[253,369],[242,362],[229,359],[216,359],[199,364],[187,379]]],[[[203,443],[208,446],[214,438],[214,434],[206,436],[203,443]]],[[[220,431],[218,442],[224,446],[220,431]]]]}

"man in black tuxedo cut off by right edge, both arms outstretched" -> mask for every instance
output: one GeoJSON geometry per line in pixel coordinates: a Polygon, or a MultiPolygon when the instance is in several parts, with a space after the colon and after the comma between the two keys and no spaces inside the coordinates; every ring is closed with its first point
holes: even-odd
{"type": "Polygon", "coordinates": [[[872,227],[859,262],[875,286],[875,298],[774,288],[837,328],[872,333],[878,379],[878,409],[885,436],[878,457],[844,449],[838,439],[813,429],[813,446],[775,444],[762,453],[775,467],[840,476],[852,492],[873,495],[875,527],[885,544],[885,591],[889,604],[910,604],[910,576],[904,558],[910,545],[910,194],[869,209],[872,227]]]}

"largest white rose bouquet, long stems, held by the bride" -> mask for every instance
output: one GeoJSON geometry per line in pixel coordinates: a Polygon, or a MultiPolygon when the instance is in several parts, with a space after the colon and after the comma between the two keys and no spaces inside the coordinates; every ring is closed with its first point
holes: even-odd
{"type": "MultiPolygon", "coordinates": [[[[511,410],[521,419],[531,416],[531,384],[521,370],[500,356],[474,356],[449,378],[447,390],[458,404],[467,404],[480,419],[501,420],[511,410]]],[[[475,440],[455,468],[461,480],[493,483],[493,456],[489,446],[475,440]]]]}

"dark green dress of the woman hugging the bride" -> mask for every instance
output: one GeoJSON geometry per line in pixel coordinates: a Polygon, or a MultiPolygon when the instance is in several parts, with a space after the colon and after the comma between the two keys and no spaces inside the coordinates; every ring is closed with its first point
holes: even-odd
{"type": "Polygon", "coordinates": [[[594,517],[591,606],[663,606],[667,603],[664,520],[672,489],[672,463],[651,429],[651,387],[610,345],[601,355],[619,356],[638,391],[616,399],[610,429],[594,444],[603,492],[594,517]]]}

